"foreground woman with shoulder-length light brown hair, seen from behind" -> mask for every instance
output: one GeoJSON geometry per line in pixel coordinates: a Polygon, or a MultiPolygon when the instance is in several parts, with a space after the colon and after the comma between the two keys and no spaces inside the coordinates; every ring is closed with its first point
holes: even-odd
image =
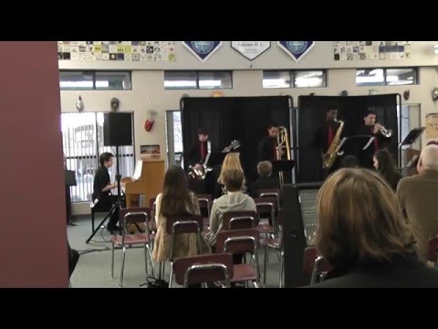
{"type": "Polygon", "coordinates": [[[381,175],[340,169],[320,188],[317,209],[316,247],[333,270],[312,287],[438,286],[438,271],[418,258],[412,226],[381,175]]]}

